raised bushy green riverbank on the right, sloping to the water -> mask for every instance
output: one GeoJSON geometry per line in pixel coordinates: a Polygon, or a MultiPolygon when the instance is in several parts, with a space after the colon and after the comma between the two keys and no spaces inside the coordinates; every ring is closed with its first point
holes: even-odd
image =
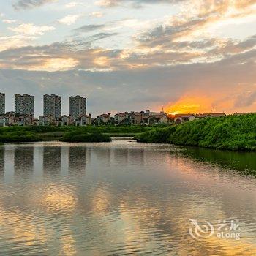
{"type": "Polygon", "coordinates": [[[256,114],[197,119],[143,132],[136,139],[144,143],[256,151],[256,114]]]}

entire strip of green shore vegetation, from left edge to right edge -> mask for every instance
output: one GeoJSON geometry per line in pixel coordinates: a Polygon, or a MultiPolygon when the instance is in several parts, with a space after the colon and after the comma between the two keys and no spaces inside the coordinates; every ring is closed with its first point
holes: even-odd
{"type": "Polygon", "coordinates": [[[172,143],[181,146],[256,151],[256,114],[202,118],[167,127],[3,127],[0,143],[61,140],[106,142],[110,137],[135,137],[143,143],[172,143]]]}

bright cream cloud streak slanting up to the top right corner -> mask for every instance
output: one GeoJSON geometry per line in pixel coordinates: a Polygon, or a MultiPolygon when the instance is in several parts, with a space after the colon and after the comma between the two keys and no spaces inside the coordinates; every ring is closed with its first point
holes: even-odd
{"type": "Polygon", "coordinates": [[[210,37],[208,28],[221,25],[228,20],[246,19],[256,13],[251,1],[187,1],[182,12],[167,18],[164,23],[150,31],[138,34],[137,40],[143,47],[171,48],[172,43],[182,40],[193,41],[195,38],[210,37]]]}

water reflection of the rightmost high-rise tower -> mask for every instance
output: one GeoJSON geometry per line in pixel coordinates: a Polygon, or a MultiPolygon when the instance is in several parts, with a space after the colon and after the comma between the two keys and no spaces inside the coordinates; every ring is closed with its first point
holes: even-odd
{"type": "Polygon", "coordinates": [[[69,148],[69,172],[84,172],[86,170],[86,154],[85,147],[69,148]]]}

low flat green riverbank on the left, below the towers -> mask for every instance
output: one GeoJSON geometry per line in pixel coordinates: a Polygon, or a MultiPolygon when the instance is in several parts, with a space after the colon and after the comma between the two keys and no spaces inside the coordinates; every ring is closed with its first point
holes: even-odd
{"type": "Polygon", "coordinates": [[[99,142],[99,138],[102,138],[101,141],[105,142],[109,141],[110,137],[135,137],[141,132],[147,132],[152,129],[155,128],[140,126],[2,127],[0,128],[0,143],[63,140],[64,138],[67,141],[73,140],[76,142],[92,142],[94,139],[99,142]],[[83,136],[78,138],[78,135],[83,136]]]}

